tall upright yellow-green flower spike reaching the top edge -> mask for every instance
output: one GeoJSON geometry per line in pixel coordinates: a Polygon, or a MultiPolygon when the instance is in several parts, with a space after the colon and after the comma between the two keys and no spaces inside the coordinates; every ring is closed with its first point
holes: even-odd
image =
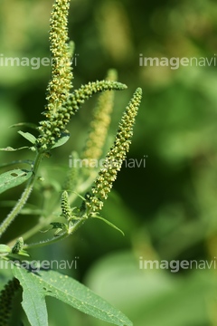
{"type": "Polygon", "coordinates": [[[48,103],[43,112],[47,120],[40,122],[41,136],[36,144],[38,148],[51,147],[55,143],[56,134],[60,135],[59,111],[63,103],[68,100],[72,88],[71,56],[74,44],[68,43],[69,9],[70,0],[55,0],[52,5],[49,38],[52,53],[52,80],[47,88],[48,103]]]}

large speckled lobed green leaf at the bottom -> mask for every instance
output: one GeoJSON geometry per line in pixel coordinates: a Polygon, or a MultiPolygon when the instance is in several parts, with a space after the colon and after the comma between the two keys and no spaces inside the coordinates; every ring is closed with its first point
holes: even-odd
{"type": "Polygon", "coordinates": [[[14,276],[24,289],[22,305],[32,326],[47,325],[44,300],[46,295],[68,303],[80,312],[99,320],[118,326],[133,325],[122,312],[71,277],[52,270],[37,272],[37,274],[30,273],[14,265],[14,276]]]}

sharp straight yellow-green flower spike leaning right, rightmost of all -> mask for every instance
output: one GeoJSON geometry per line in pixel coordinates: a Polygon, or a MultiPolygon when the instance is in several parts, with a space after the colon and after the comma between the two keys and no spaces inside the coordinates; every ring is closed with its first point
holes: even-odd
{"type": "Polygon", "coordinates": [[[103,201],[107,199],[112,184],[117,178],[122,162],[126,158],[131,138],[133,136],[133,125],[137,116],[137,110],[142,99],[142,90],[137,88],[132,100],[128,103],[127,109],[119,123],[118,132],[113,147],[109,150],[100,169],[98,177],[94,181],[86,205],[91,213],[98,212],[103,201]]]}

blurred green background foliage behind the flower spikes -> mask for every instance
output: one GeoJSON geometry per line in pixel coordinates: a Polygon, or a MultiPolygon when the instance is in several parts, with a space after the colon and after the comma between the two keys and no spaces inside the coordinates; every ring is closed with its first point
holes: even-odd
{"type": "MultiPolygon", "coordinates": [[[[52,0],[1,0],[0,60],[50,57],[51,8],[52,0]]],[[[146,167],[123,167],[103,208],[102,216],[118,225],[125,237],[91,220],[64,243],[32,254],[33,259],[79,257],[76,270],[61,273],[87,284],[125,312],[135,326],[217,325],[215,268],[179,273],[139,269],[139,257],[206,260],[217,269],[216,65],[212,61],[176,70],[139,66],[140,53],[216,60],[216,18],[217,3],[212,0],[71,1],[70,36],[77,57],[74,88],[103,79],[109,68],[118,70],[119,81],[128,88],[116,94],[109,129],[112,142],[127,102],[142,87],[143,101],[127,158],[145,159],[146,167]]],[[[51,67],[1,64],[0,77],[0,147],[24,146],[25,140],[8,126],[42,120],[51,67]]],[[[44,160],[47,175],[42,169],[43,177],[58,180],[57,167],[67,167],[71,150],[82,149],[95,101],[87,102],[71,121],[71,140],[44,160]]],[[[1,152],[1,163],[24,158],[33,158],[33,153],[1,152]]],[[[49,187],[55,189],[54,181],[49,187]]],[[[22,188],[7,191],[2,199],[16,200],[22,188]]],[[[30,203],[35,202],[39,206],[42,202],[37,193],[30,198],[30,203]]],[[[1,219],[7,211],[1,207],[1,219]]],[[[19,216],[5,241],[36,222],[37,216],[19,216]]],[[[51,326],[108,324],[61,302],[48,299],[47,303],[51,326]]]]}

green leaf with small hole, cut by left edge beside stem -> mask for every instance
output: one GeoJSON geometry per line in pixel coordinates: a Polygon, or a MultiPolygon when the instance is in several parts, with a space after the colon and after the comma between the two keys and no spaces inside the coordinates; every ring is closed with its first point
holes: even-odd
{"type": "Polygon", "coordinates": [[[31,177],[33,172],[16,168],[0,175],[0,194],[7,189],[21,185],[31,177]]]}

